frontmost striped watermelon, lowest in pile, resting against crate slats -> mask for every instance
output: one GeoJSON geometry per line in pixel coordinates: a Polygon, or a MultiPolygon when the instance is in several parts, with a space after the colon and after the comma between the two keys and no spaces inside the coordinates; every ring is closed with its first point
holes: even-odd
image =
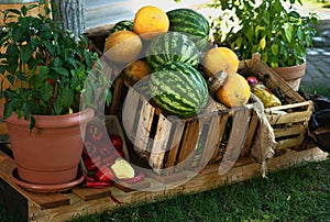
{"type": "Polygon", "coordinates": [[[153,101],[165,112],[179,118],[198,114],[207,104],[208,88],[200,73],[184,63],[158,67],[150,77],[153,101]]]}

